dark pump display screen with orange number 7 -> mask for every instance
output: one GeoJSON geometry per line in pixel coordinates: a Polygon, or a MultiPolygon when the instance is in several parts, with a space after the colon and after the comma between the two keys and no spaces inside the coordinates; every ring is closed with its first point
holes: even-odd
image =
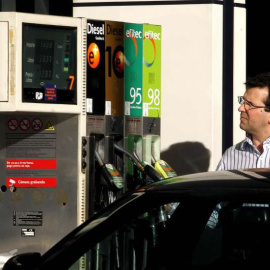
{"type": "Polygon", "coordinates": [[[23,102],[77,104],[75,27],[23,24],[23,102]]]}

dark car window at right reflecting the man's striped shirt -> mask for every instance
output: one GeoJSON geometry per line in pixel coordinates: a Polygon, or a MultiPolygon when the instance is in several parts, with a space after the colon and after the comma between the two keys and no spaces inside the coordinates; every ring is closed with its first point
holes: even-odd
{"type": "MultiPolygon", "coordinates": [[[[269,267],[269,204],[220,202],[194,248],[194,269],[269,267]],[[210,268],[211,267],[211,268],[210,268]]],[[[241,268],[242,269],[242,268],[241,268]]]]}

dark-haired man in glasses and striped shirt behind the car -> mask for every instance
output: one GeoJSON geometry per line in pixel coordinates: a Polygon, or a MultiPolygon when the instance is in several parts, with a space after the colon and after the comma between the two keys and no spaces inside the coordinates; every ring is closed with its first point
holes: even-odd
{"type": "Polygon", "coordinates": [[[245,85],[238,111],[246,138],[225,151],[217,170],[270,168],[270,73],[256,75],[245,85]]]}

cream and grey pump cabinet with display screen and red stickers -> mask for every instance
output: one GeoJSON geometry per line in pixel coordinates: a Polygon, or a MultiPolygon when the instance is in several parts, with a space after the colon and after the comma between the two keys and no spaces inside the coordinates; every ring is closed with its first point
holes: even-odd
{"type": "Polygon", "coordinates": [[[86,20],[1,12],[0,34],[0,254],[44,253],[85,220],[86,20]]]}

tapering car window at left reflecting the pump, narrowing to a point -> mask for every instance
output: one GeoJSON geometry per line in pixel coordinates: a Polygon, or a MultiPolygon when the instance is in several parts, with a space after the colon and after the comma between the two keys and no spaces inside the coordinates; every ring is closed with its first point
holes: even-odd
{"type": "Polygon", "coordinates": [[[148,258],[164,233],[179,202],[162,204],[112,232],[71,268],[87,270],[146,269],[148,258]]]}

